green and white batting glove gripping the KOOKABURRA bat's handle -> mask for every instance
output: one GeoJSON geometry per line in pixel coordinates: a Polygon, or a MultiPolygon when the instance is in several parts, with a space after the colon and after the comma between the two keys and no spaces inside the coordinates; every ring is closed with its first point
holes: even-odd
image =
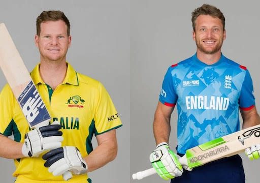
{"type": "Polygon", "coordinates": [[[183,173],[177,155],[173,153],[166,142],[156,146],[150,155],[150,162],[158,175],[165,180],[181,176],[183,173]]]}

